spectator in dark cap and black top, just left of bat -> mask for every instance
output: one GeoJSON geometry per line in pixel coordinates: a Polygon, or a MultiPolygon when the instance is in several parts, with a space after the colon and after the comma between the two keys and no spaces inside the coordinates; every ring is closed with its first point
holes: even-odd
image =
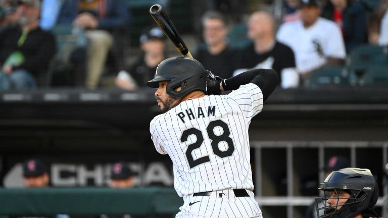
{"type": "Polygon", "coordinates": [[[159,63],[166,59],[166,37],[159,27],[148,28],[140,35],[141,54],[127,69],[116,77],[118,87],[133,90],[146,86],[153,79],[159,63]]]}

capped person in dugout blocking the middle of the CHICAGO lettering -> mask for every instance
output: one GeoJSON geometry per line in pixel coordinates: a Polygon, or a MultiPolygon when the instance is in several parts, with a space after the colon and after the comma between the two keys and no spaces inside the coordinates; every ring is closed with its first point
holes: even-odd
{"type": "Polygon", "coordinates": [[[132,188],[135,185],[135,174],[129,169],[128,163],[116,162],[111,168],[112,188],[132,188]]]}

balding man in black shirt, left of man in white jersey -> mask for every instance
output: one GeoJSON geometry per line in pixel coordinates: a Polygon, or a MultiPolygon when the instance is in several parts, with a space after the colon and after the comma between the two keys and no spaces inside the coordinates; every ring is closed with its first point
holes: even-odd
{"type": "Polygon", "coordinates": [[[253,13],[248,22],[248,37],[252,43],[237,52],[234,75],[248,69],[273,69],[279,74],[282,88],[298,87],[294,52],[276,41],[273,17],[261,11],[253,13]]]}

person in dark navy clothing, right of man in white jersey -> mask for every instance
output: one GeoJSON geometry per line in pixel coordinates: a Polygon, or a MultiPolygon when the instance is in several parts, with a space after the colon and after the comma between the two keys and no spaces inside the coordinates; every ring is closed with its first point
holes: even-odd
{"type": "Polygon", "coordinates": [[[334,21],[341,28],[346,51],[367,42],[366,11],[354,0],[330,0],[322,17],[334,21]]]}

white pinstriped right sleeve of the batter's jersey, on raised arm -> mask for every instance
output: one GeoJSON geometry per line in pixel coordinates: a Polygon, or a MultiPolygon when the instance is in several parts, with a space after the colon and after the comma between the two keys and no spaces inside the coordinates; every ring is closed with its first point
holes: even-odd
{"type": "Polygon", "coordinates": [[[263,110],[263,93],[256,84],[242,85],[228,96],[237,102],[241,112],[249,120],[263,110]]]}

